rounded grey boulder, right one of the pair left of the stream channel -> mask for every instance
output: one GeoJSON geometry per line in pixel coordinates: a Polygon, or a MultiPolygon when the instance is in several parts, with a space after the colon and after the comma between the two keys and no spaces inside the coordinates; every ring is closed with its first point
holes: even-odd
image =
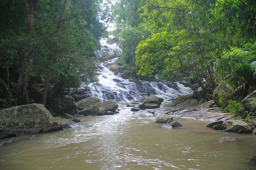
{"type": "Polygon", "coordinates": [[[94,113],[98,113],[100,111],[100,108],[103,108],[106,112],[107,111],[115,112],[118,108],[118,104],[114,100],[102,101],[102,102],[96,103],[92,110],[94,113]]]}

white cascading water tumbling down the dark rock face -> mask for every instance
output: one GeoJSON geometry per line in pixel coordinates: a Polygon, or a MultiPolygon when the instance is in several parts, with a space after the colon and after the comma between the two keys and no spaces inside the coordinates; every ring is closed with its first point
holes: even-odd
{"type": "MultiPolygon", "coordinates": [[[[100,43],[103,47],[95,51],[98,57],[120,55],[122,51],[117,44],[109,45],[106,40],[101,40],[100,43]]],[[[114,63],[117,59],[118,57],[110,59],[107,63],[114,63]]],[[[99,83],[97,85],[84,84],[81,88],[88,89],[90,96],[97,96],[101,100],[115,100],[119,104],[125,104],[130,101],[141,100],[147,94],[154,94],[167,100],[192,93],[190,88],[178,82],[169,82],[168,87],[162,82],[128,80],[115,75],[109,68],[104,66],[104,63],[100,63],[98,67],[100,70],[99,83]],[[170,84],[172,87],[170,87],[170,84]]]]}

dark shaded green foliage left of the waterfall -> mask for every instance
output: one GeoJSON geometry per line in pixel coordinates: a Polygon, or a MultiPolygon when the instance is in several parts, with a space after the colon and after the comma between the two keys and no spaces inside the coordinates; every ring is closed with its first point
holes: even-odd
{"type": "MultiPolygon", "coordinates": [[[[96,81],[93,51],[106,29],[100,20],[110,22],[109,9],[101,10],[106,4],[102,0],[67,1],[61,29],[56,32],[65,1],[35,2],[36,17],[31,25],[33,31],[29,33],[25,2],[4,0],[0,3],[0,79],[10,93],[17,94],[15,83],[24,53],[33,61],[29,85],[36,83],[37,77],[45,78],[50,73],[56,96],[79,87],[81,82],[96,81]]],[[[7,98],[1,95],[1,101],[8,101],[7,98]]]]}

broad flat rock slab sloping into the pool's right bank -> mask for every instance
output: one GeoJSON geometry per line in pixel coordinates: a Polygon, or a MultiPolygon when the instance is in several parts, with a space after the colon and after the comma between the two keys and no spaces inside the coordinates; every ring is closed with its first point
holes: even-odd
{"type": "Polygon", "coordinates": [[[196,110],[196,111],[186,110],[184,112],[172,114],[171,116],[182,117],[182,118],[193,118],[193,119],[207,120],[207,121],[217,121],[217,120],[226,121],[234,117],[229,113],[221,112],[220,108],[218,107],[208,108],[204,110],[196,110]]]}

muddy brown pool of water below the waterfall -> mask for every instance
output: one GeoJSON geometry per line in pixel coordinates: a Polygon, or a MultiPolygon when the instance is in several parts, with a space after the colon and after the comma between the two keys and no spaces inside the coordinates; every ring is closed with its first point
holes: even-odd
{"type": "Polygon", "coordinates": [[[78,117],[79,126],[0,142],[0,169],[256,169],[256,135],[224,133],[207,121],[174,117],[183,128],[155,123],[157,115],[124,108],[109,116],[78,117]],[[216,144],[226,136],[237,142],[216,144]]]}

